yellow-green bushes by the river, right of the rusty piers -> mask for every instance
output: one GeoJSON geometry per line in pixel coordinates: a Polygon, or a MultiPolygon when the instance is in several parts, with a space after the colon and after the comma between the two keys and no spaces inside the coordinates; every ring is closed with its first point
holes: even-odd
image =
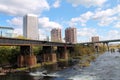
{"type": "Polygon", "coordinates": [[[97,51],[94,45],[76,45],[74,50],[75,54],[72,55],[72,58],[79,59],[78,66],[82,68],[90,66],[90,63],[95,61],[99,55],[103,54],[106,51],[106,48],[102,45],[99,45],[97,51]]]}

